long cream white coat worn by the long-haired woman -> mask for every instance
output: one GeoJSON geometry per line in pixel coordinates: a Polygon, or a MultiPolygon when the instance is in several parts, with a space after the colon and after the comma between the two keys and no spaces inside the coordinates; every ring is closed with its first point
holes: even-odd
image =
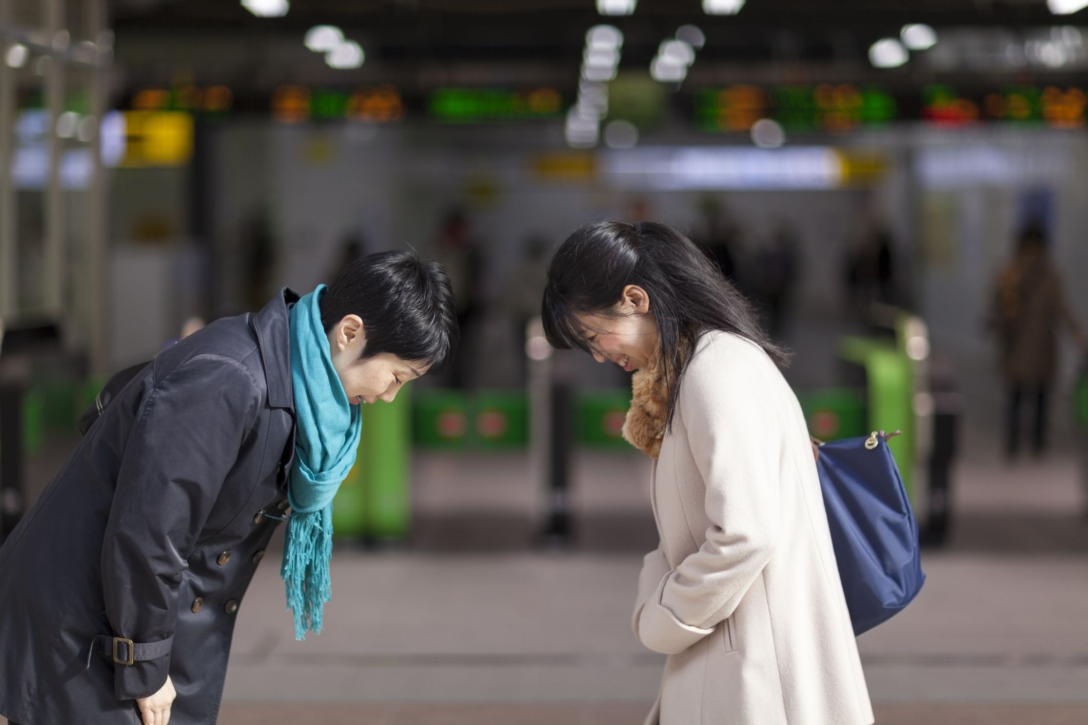
{"type": "Polygon", "coordinates": [[[646,725],[869,725],[804,415],[775,363],[704,335],[653,467],[632,626],[669,655],[646,725]]]}

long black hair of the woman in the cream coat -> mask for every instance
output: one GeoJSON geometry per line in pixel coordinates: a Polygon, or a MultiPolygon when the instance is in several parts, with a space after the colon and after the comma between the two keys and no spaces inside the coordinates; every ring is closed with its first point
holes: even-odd
{"type": "Polygon", "coordinates": [[[552,258],[544,289],[544,334],[553,347],[592,353],[574,315],[616,316],[628,285],[650,295],[659,339],[660,365],[668,386],[672,425],[680,377],[695,341],[725,330],[758,345],[779,366],[790,352],[759,327],[751,303],[688,237],[665,224],[597,222],[567,237],[552,258]]]}

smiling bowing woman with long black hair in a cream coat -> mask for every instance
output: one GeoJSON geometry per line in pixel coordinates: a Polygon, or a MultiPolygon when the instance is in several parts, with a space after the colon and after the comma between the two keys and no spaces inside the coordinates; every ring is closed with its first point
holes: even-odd
{"type": "Polygon", "coordinates": [[[558,348],[634,372],[660,543],[632,627],[669,655],[647,725],[868,725],[865,677],[788,352],[683,235],[599,222],[556,251],[558,348]]]}

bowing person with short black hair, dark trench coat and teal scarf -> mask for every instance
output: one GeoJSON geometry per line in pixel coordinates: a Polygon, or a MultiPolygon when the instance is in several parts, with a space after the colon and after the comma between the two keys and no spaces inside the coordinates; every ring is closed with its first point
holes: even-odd
{"type": "Polygon", "coordinates": [[[456,341],[442,267],[383,252],[160,353],[0,548],[0,714],[215,722],[234,614],[276,524],[302,638],[331,596],[360,404],[392,402],[456,341]]]}

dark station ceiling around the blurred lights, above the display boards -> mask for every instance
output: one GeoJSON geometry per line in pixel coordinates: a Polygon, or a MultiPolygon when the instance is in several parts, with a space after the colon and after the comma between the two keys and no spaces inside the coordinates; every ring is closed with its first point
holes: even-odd
{"type": "Polygon", "coordinates": [[[620,17],[598,15],[594,0],[292,0],[280,18],[255,17],[237,0],[113,0],[111,14],[129,83],[169,83],[181,74],[234,86],[388,79],[406,88],[572,86],[585,30],[598,23],[623,32],[621,68],[648,67],[658,43],[693,23],[706,36],[693,80],[801,75],[916,84],[930,72],[920,65],[875,71],[869,46],[907,23],[939,33],[1016,34],[1088,20],[1088,11],[1055,17],[1046,0],[749,0],[734,16],[707,15],[700,0],[640,0],[633,15],[620,17]],[[363,67],[335,72],[307,54],[301,39],[317,24],[338,25],[358,39],[363,67]]]}

